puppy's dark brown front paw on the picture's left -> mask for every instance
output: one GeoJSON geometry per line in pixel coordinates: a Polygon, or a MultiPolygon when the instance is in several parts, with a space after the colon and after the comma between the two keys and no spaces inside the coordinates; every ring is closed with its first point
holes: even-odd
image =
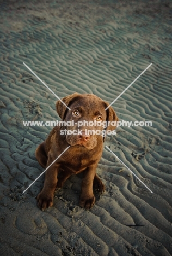
{"type": "Polygon", "coordinates": [[[41,191],[37,198],[38,207],[44,211],[46,208],[50,208],[53,205],[53,195],[41,191]]]}

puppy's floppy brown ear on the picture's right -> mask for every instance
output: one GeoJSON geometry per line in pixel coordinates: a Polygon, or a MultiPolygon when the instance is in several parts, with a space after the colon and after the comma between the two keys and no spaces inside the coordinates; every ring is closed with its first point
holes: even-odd
{"type": "MultiPolygon", "coordinates": [[[[109,106],[108,102],[105,102],[106,104],[106,108],[109,106]]],[[[107,118],[106,121],[109,121],[110,123],[108,123],[109,125],[107,126],[106,130],[110,130],[113,131],[116,128],[117,122],[119,121],[115,111],[113,110],[113,108],[110,106],[107,110],[107,118]],[[112,123],[113,122],[113,123],[112,123]],[[113,125],[111,125],[113,124],[113,125]]]]}

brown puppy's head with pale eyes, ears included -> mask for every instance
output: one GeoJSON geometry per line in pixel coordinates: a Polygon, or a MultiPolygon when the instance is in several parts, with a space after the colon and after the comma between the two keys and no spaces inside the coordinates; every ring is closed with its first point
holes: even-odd
{"type": "MultiPolygon", "coordinates": [[[[94,94],[72,94],[57,101],[56,109],[66,126],[66,141],[71,146],[93,149],[97,139],[105,137],[106,131],[114,130],[118,117],[109,103],[94,94]],[[113,125],[112,125],[113,124],[113,125]]],[[[62,132],[62,134],[64,134],[62,132]]]]}

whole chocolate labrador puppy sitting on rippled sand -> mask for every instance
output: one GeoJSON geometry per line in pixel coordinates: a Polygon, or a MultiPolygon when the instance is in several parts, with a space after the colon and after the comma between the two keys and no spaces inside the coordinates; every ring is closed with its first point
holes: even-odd
{"type": "Polygon", "coordinates": [[[37,196],[38,206],[42,210],[50,208],[54,191],[62,188],[72,174],[84,171],[79,205],[88,210],[95,203],[93,188],[100,193],[105,191],[105,185],[96,174],[96,167],[102,155],[105,134],[114,131],[116,126],[112,123],[115,124],[118,117],[112,107],[105,111],[109,103],[94,94],[75,93],[62,98],[62,101],[71,110],[57,101],[61,124],[54,127],[36,149],[36,158],[43,168],[47,168],[70,147],[47,169],[44,188],[37,196]]]}

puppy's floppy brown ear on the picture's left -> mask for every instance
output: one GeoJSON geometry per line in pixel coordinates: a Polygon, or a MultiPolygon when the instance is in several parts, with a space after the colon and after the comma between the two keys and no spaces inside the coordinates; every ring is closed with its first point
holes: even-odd
{"type": "MultiPolygon", "coordinates": [[[[76,97],[78,97],[80,94],[78,94],[77,92],[75,92],[75,94],[71,94],[69,96],[66,96],[64,98],[62,98],[62,101],[67,105],[67,107],[69,106],[69,104],[75,100],[76,97]]],[[[65,105],[61,102],[61,101],[57,101],[56,102],[56,110],[57,113],[59,115],[59,117],[64,120],[66,117],[66,113],[69,110],[68,108],[65,107],[65,105]]],[[[69,110],[70,111],[70,110],[69,110]]]]}

